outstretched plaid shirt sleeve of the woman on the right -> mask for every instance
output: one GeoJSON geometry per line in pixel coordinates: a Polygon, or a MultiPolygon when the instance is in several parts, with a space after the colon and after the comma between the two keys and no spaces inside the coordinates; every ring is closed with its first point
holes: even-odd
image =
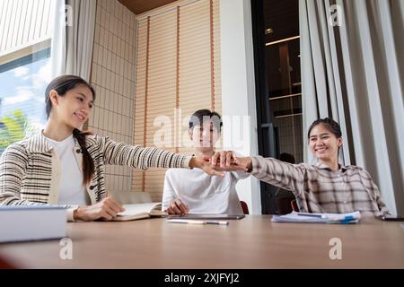
{"type": "Polygon", "coordinates": [[[298,166],[261,156],[251,157],[251,175],[269,184],[294,192],[294,196],[301,196],[303,192],[304,170],[298,166]]]}

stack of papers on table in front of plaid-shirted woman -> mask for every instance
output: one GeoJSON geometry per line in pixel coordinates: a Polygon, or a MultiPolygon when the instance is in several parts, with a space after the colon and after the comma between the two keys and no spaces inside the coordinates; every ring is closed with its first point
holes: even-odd
{"type": "Polygon", "coordinates": [[[303,222],[303,223],[357,223],[361,213],[296,213],[274,215],[272,222],[303,222]]]}

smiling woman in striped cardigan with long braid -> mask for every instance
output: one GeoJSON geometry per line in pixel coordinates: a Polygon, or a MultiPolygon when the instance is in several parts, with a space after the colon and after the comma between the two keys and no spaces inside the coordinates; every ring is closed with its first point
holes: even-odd
{"type": "Polygon", "coordinates": [[[0,158],[0,204],[60,204],[71,221],[111,220],[123,207],[105,188],[107,164],[141,170],[199,168],[223,176],[195,157],[82,132],[95,92],[78,76],[57,77],[48,84],[45,96],[45,129],[9,145],[0,158]]]}

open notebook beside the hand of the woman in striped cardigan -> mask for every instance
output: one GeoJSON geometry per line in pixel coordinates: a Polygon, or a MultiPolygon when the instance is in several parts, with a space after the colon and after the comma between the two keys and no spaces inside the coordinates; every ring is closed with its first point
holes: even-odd
{"type": "Polygon", "coordinates": [[[167,213],[162,212],[162,203],[123,204],[123,207],[125,208],[125,211],[118,213],[118,215],[112,219],[112,221],[127,222],[154,216],[161,217],[167,215],[167,213]]]}

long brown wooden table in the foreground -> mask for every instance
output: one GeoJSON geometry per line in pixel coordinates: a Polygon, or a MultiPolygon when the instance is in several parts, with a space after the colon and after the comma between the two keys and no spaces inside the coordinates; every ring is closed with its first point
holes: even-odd
{"type": "Polygon", "coordinates": [[[134,222],[68,223],[72,260],[59,240],[0,244],[0,254],[28,268],[404,268],[402,222],[363,218],[356,225],[270,222],[247,215],[228,226],[134,222]],[[342,259],[329,258],[341,239],[342,259]]]}

